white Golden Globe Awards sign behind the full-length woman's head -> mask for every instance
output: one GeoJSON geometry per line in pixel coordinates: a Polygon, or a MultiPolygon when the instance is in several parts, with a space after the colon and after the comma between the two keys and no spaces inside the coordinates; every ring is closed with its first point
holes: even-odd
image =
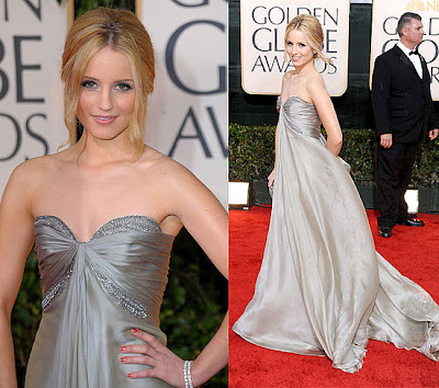
{"type": "Polygon", "coordinates": [[[316,61],[330,95],[348,85],[349,0],[241,0],[241,83],[250,94],[279,94],[283,73],[284,32],[297,14],[316,16],[324,30],[323,53],[333,65],[316,61]]]}

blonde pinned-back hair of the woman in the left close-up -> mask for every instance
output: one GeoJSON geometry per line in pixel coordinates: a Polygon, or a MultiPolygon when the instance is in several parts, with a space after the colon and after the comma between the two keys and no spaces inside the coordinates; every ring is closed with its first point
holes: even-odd
{"type": "Polygon", "coordinates": [[[140,21],[126,10],[98,8],[80,15],[67,34],[63,54],[61,80],[66,144],[77,139],[77,111],[82,78],[91,57],[104,47],[123,53],[131,62],[136,99],[128,137],[138,158],[144,148],[147,96],[154,90],[155,58],[149,35],[140,21]]]}

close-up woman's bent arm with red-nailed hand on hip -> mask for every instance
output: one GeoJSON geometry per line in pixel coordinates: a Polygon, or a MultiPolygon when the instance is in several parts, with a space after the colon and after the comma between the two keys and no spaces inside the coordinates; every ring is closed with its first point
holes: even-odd
{"type": "MultiPolygon", "coordinates": [[[[166,202],[169,214],[179,218],[216,269],[227,277],[227,213],[190,171],[176,162],[170,163],[171,168],[166,172],[166,202]]],[[[133,334],[147,342],[147,345],[126,345],[123,352],[144,355],[127,356],[123,362],[151,365],[154,369],[133,373],[130,377],[158,377],[172,386],[184,387],[183,361],[153,335],[139,330],[133,334]]],[[[192,364],[191,375],[194,386],[207,381],[227,364],[227,351],[226,316],[216,334],[192,364]]]]}

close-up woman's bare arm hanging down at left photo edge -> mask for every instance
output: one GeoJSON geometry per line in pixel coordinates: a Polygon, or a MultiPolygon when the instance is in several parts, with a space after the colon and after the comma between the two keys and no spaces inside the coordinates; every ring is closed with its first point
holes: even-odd
{"type": "Polygon", "coordinates": [[[11,311],[34,240],[29,172],[23,164],[15,169],[0,204],[0,387],[5,388],[16,387],[11,311]]]}

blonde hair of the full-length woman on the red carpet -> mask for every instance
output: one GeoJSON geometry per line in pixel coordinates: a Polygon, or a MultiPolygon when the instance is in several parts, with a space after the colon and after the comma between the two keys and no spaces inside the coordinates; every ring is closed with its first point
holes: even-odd
{"type": "MultiPolygon", "coordinates": [[[[317,18],[311,15],[297,15],[288,24],[285,28],[285,47],[288,36],[293,30],[300,31],[306,38],[311,48],[315,52],[314,58],[320,58],[325,64],[331,64],[333,61],[325,57],[322,53],[323,49],[323,28],[317,18]]],[[[285,50],[286,53],[286,50],[285,50]]]]}

